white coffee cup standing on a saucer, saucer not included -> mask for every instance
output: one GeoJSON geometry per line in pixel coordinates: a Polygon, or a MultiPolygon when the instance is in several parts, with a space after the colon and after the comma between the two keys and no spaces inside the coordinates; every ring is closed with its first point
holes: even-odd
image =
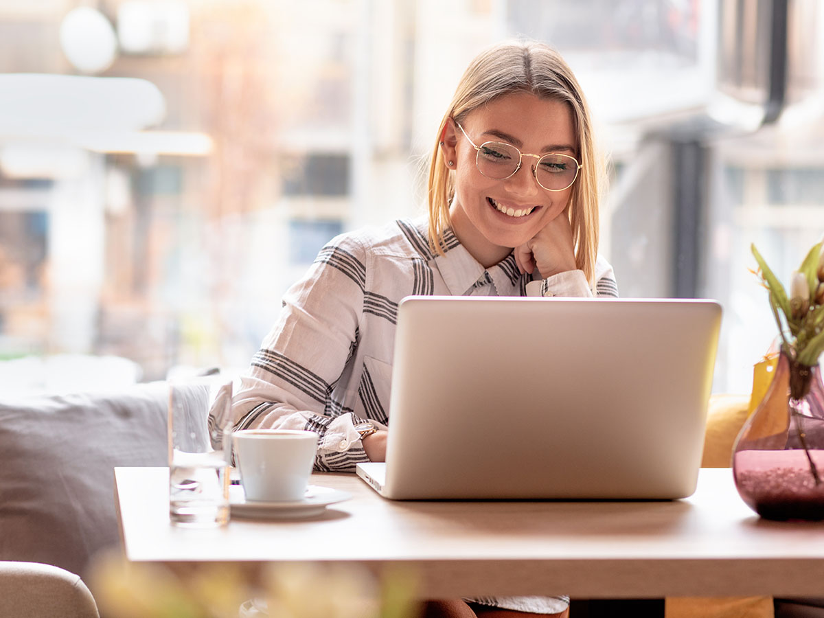
{"type": "Polygon", "coordinates": [[[317,433],[300,429],[241,429],[232,433],[241,483],[250,502],[291,502],[306,494],[317,433]]]}

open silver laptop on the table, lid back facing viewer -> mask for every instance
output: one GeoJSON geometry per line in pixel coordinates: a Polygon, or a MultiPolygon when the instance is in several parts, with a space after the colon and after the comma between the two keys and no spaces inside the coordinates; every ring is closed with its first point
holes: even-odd
{"type": "Polygon", "coordinates": [[[390,499],[677,499],[704,445],[721,307],[708,300],[407,297],[390,499]]]}

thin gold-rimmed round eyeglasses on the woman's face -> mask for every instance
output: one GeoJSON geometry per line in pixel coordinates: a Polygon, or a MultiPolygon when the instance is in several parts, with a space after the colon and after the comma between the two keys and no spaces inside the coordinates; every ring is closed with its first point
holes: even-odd
{"type": "Polygon", "coordinates": [[[535,166],[532,166],[532,175],[538,184],[547,191],[563,191],[572,186],[578,178],[578,170],[583,167],[575,157],[559,152],[535,155],[521,152],[512,144],[503,142],[484,142],[480,146],[475,146],[475,142],[466,134],[461,124],[455,124],[478,152],[475,165],[487,178],[506,180],[521,169],[523,157],[533,157],[538,160],[535,166]]]}

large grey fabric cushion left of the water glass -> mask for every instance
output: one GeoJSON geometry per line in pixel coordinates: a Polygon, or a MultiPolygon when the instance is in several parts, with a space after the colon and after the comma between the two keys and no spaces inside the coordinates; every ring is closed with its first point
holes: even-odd
{"type": "Polygon", "coordinates": [[[83,575],[119,543],[115,466],[166,466],[164,382],[0,400],[0,559],[83,575]]]}

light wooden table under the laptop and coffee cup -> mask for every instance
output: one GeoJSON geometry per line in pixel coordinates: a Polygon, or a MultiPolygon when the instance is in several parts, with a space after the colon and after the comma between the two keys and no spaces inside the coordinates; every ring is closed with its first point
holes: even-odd
{"type": "Polygon", "coordinates": [[[116,468],[125,553],[136,562],[402,563],[422,596],[824,596],[824,523],[770,522],[732,472],[705,469],[674,502],[392,502],[353,475],[313,485],[352,499],[316,519],[172,527],[166,468],[116,468]]]}

